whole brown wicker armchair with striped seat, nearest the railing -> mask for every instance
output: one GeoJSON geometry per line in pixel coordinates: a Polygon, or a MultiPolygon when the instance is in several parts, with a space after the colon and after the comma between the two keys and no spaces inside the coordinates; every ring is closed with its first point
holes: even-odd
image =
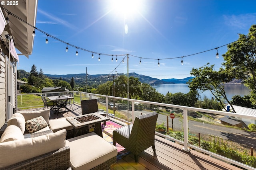
{"type": "Polygon", "coordinates": [[[152,146],[155,148],[155,129],[158,113],[152,112],[137,116],[134,123],[120,127],[113,131],[113,145],[116,143],[134,154],[135,162],[138,162],[138,154],[152,146]]]}

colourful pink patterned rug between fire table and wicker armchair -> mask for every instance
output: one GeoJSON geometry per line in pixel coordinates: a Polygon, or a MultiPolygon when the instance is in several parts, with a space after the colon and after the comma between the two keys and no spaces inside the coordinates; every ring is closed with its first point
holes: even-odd
{"type": "MultiPolygon", "coordinates": [[[[113,139],[112,139],[113,131],[119,127],[122,127],[122,126],[112,121],[106,121],[106,126],[104,127],[104,129],[102,127],[103,138],[113,145],[113,139]]],[[[117,159],[121,159],[123,156],[126,156],[127,154],[130,153],[130,151],[126,150],[124,147],[122,147],[118,143],[116,143],[116,148],[118,151],[118,154],[116,156],[117,159]]]]}

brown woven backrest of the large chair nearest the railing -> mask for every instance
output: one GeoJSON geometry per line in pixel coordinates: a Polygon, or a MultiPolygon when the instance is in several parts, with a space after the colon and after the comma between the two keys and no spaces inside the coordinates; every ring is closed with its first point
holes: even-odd
{"type": "Polygon", "coordinates": [[[129,143],[141,147],[142,150],[154,144],[158,113],[152,112],[137,116],[132,125],[129,143]]]}

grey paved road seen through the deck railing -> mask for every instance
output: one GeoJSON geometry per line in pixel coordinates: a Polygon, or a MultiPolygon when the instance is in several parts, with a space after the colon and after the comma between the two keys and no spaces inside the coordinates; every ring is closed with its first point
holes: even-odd
{"type": "MultiPolygon", "coordinates": [[[[126,110],[127,113],[127,110],[126,110]]],[[[148,113],[147,111],[135,111],[135,116],[140,114],[148,113]]],[[[158,115],[158,123],[167,122],[166,115],[158,115]]],[[[182,122],[179,117],[175,117],[174,120],[174,130],[182,129],[182,122]]],[[[172,127],[172,120],[169,118],[169,127],[172,127]]],[[[202,123],[198,121],[188,121],[188,127],[190,133],[193,134],[203,134],[203,135],[214,135],[221,137],[222,139],[233,141],[248,147],[253,147],[256,149],[256,133],[248,132],[244,130],[234,129],[230,127],[211,125],[207,123],[202,123]]]]}

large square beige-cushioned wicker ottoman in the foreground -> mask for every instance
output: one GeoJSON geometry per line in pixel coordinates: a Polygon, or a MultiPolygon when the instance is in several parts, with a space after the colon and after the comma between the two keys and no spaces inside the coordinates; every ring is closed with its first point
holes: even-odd
{"type": "Polygon", "coordinates": [[[73,170],[92,169],[117,155],[116,147],[94,132],[67,139],[66,146],[73,170]]]}

